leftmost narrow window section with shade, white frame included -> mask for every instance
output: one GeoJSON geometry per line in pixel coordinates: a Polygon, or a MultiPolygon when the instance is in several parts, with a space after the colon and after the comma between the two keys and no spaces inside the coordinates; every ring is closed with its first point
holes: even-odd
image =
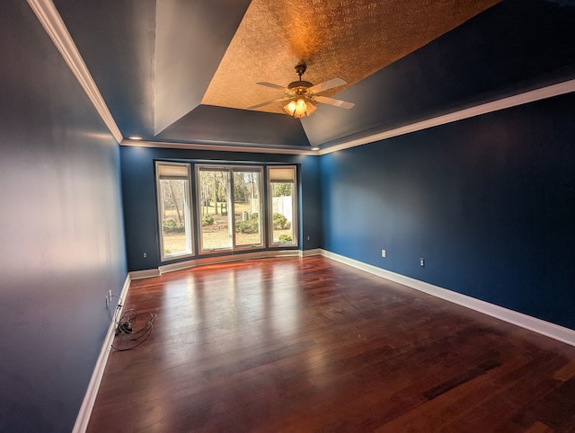
{"type": "Polygon", "coordinates": [[[191,255],[190,164],[156,163],[155,172],[162,261],[191,255]]]}

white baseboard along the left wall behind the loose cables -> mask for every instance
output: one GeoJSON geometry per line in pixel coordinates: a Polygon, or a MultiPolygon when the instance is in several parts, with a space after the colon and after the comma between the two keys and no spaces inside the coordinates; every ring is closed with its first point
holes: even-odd
{"type": "MultiPolygon", "coordinates": [[[[122,306],[120,307],[119,315],[122,313],[123,303],[128,296],[129,283],[131,278],[126,277],[124,286],[119,294],[119,298],[122,300],[122,306]]],[[[100,384],[102,383],[102,376],[104,375],[104,369],[106,368],[106,363],[108,362],[108,357],[110,356],[111,343],[114,340],[116,333],[115,323],[112,321],[106,332],[106,338],[102,344],[102,349],[100,350],[100,355],[96,360],[96,366],[93,369],[92,377],[90,378],[90,383],[88,384],[88,389],[84,395],[84,401],[82,406],[80,406],[80,411],[75,419],[73,433],[84,433],[88,428],[88,422],[90,421],[90,416],[92,415],[93,403],[96,401],[96,395],[98,395],[98,390],[100,389],[100,384]]]]}

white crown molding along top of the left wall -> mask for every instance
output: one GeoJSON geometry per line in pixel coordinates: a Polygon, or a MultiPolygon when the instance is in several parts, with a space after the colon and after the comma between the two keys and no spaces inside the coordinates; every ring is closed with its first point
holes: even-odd
{"type": "Polygon", "coordinates": [[[74,40],[72,40],[72,36],[70,36],[66,24],[57,12],[54,3],[52,3],[51,0],[28,0],[28,4],[30,4],[32,10],[36,13],[36,16],[62,57],[64,57],[66,64],[72,70],[78,83],[84,88],[84,92],[88,95],[88,98],[93,103],[93,106],[100,114],[100,117],[108,129],[110,129],[111,134],[118,143],[121,143],[124,137],[122,137],[122,133],[119,131],[118,125],[116,125],[116,121],[112,118],[111,112],[108,110],[108,106],[102,98],[102,94],[94,83],[92,75],[90,75],[84,63],[84,59],[76,48],[74,40]]]}

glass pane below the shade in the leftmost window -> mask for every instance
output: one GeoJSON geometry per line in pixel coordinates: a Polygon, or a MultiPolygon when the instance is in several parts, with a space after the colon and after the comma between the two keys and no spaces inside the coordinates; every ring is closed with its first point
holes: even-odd
{"type": "Polygon", "coordinates": [[[188,180],[160,181],[163,258],[191,253],[188,180]]]}

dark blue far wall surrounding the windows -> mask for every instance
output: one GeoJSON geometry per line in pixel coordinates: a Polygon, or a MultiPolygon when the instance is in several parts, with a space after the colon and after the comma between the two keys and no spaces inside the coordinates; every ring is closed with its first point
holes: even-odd
{"type": "Polygon", "coordinates": [[[130,271],[151,270],[162,264],[155,198],[155,160],[300,164],[300,249],[310,250],[321,246],[322,212],[317,156],[226,153],[134,146],[122,146],[120,155],[126,248],[130,271]],[[307,236],[310,238],[309,241],[307,236]],[[146,258],[144,258],[145,252],[146,258]]]}

